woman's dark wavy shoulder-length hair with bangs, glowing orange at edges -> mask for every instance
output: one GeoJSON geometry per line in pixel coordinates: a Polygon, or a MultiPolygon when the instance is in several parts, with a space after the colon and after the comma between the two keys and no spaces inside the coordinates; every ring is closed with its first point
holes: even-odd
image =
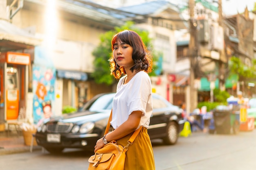
{"type": "MultiPolygon", "coordinates": [[[[118,40],[132,46],[132,59],[135,63],[135,65],[132,68],[130,68],[132,72],[144,70],[145,72],[149,73],[152,71],[152,56],[150,52],[147,50],[141,37],[135,31],[124,30],[115,34],[111,42],[112,51],[114,50],[114,44],[118,40]]],[[[110,56],[109,62],[111,72],[110,74],[113,75],[115,78],[119,79],[122,74],[126,74],[124,67],[117,65],[113,53],[110,56]]]]}

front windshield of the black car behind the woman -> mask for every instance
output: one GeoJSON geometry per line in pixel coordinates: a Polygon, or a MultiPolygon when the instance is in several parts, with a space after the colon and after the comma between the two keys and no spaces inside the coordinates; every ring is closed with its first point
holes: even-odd
{"type": "Polygon", "coordinates": [[[115,94],[95,96],[88,101],[81,110],[103,111],[112,109],[112,100],[115,94]]]}

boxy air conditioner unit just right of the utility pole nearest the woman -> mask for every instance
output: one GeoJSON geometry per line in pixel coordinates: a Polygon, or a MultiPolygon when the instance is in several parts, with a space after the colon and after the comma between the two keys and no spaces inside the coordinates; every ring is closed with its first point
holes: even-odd
{"type": "Polygon", "coordinates": [[[209,23],[208,20],[198,20],[198,41],[200,43],[209,42],[209,23]]]}

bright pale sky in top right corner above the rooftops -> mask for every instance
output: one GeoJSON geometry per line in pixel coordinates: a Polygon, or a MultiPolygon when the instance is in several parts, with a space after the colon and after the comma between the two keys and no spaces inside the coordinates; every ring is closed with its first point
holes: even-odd
{"type": "Polygon", "coordinates": [[[244,12],[246,6],[252,11],[255,2],[256,0],[222,0],[222,11],[225,15],[234,15],[244,12]]]}

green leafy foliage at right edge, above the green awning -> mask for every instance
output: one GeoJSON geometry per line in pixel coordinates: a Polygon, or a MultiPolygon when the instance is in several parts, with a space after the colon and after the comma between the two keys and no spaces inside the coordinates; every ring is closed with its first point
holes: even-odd
{"type": "Polygon", "coordinates": [[[252,66],[245,65],[240,58],[231,57],[229,70],[233,74],[238,74],[239,81],[256,78],[256,59],[252,59],[252,66]]]}

